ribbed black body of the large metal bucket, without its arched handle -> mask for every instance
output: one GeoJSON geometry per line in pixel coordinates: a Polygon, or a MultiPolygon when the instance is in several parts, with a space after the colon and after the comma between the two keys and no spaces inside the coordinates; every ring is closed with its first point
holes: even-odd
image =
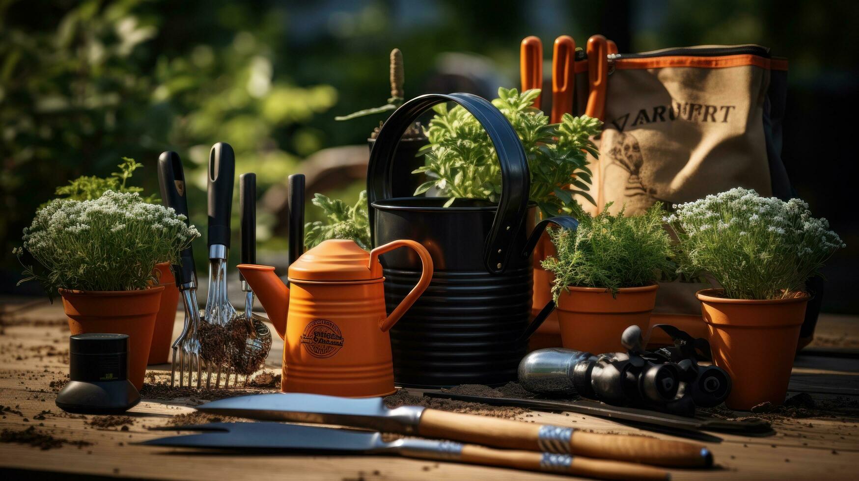
{"type": "MultiPolygon", "coordinates": [[[[391,329],[394,379],[407,387],[499,385],[514,381],[525,355],[532,266],[516,257],[502,274],[486,271],[484,243],[497,206],[478,199],[393,198],[375,202],[378,244],[411,239],[430,252],[430,287],[391,329]]],[[[528,218],[533,219],[534,210],[528,218]]],[[[520,228],[516,252],[525,248],[520,228]]],[[[421,261],[399,249],[381,257],[388,312],[417,283],[421,261]]]]}

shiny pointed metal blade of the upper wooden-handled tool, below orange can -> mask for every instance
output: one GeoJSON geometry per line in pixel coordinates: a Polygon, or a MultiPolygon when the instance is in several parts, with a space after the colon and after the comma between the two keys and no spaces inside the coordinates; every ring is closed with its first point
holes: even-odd
{"type": "Polygon", "coordinates": [[[321,394],[272,393],[219,399],[198,411],[262,421],[340,424],[389,433],[414,433],[422,406],[388,409],[381,398],[340,398],[321,394]]]}

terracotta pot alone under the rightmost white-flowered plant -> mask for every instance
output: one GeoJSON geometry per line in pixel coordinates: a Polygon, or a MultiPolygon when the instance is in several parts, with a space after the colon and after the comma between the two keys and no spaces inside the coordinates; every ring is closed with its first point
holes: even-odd
{"type": "Polygon", "coordinates": [[[710,332],[713,362],[734,383],[725,405],[749,410],[764,401],[782,404],[809,295],[748,300],[728,299],[722,292],[704,289],[695,296],[710,332]]]}

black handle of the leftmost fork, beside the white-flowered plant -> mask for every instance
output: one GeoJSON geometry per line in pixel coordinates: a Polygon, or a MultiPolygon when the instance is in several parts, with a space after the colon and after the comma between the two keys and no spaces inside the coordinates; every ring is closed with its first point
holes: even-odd
{"type": "MultiPolygon", "coordinates": [[[[161,202],[172,207],[177,214],[186,216],[188,223],[188,199],[186,198],[185,171],[179,154],[168,150],[158,157],[158,184],[161,187],[161,202]]],[[[191,246],[179,253],[180,265],[174,265],[176,285],[194,280],[194,254],[191,246]]]]}

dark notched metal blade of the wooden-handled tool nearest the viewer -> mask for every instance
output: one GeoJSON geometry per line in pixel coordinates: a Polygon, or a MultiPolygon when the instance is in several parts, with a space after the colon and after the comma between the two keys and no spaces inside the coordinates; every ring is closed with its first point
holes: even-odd
{"type": "Polygon", "coordinates": [[[381,434],[350,429],[282,423],[210,423],[178,426],[174,431],[203,431],[150,439],[141,444],[174,448],[283,449],[290,451],[370,452],[385,448],[381,434]]]}

